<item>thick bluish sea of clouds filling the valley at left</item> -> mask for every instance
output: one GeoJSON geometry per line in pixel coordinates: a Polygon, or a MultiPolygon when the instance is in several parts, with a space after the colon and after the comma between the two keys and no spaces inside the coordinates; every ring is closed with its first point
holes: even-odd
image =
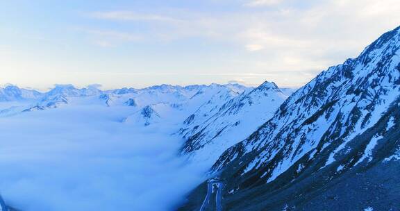
{"type": "Polygon", "coordinates": [[[76,105],[0,118],[0,192],[30,210],[174,210],[205,169],[173,125],[121,121],[128,108],[76,105]]]}

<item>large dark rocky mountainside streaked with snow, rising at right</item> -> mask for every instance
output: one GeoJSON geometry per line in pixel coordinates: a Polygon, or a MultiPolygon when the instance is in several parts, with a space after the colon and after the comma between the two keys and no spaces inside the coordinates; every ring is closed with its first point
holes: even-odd
{"type": "MultiPolygon", "coordinates": [[[[330,67],[227,149],[225,210],[400,210],[400,27],[330,67]]],[[[204,184],[181,210],[199,208],[204,184]]]]}

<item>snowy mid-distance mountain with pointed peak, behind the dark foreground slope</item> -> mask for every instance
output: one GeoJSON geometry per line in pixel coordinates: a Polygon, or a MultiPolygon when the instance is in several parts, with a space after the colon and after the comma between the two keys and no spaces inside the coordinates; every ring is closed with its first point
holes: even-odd
{"type": "Polygon", "coordinates": [[[187,138],[182,153],[197,162],[213,164],[228,147],[244,140],[271,118],[286,98],[274,83],[265,82],[226,103],[211,106],[213,109],[210,103],[201,106],[180,130],[187,138]],[[199,118],[199,114],[206,116],[199,118]]]}

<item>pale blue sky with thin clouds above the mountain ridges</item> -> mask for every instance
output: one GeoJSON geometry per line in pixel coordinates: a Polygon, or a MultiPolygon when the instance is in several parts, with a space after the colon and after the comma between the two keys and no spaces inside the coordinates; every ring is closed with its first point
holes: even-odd
{"type": "Polygon", "coordinates": [[[399,0],[2,0],[0,84],[299,87],[400,24],[399,0]]]}

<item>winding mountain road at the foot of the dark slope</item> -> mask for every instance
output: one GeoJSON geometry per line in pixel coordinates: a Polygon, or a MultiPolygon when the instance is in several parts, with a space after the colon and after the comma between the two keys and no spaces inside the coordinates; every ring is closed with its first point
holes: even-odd
{"type": "Polygon", "coordinates": [[[224,189],[224,183],[217,178],[209,179],[207,182],[207,195],[201,204],[200,211],[222,211],[222,189],[224,189]],[[214,194],[215,201],[210,201],[214,194]]]}

